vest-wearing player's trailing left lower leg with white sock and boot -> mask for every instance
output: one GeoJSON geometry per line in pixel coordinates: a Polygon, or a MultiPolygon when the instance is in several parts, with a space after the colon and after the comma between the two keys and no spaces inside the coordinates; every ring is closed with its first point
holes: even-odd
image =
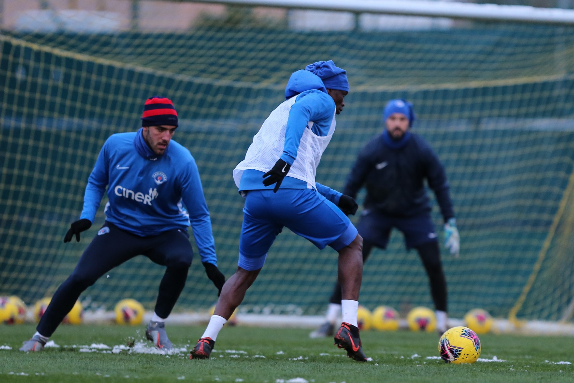
{"type": "Polygon", "coordinates": [[[193,347],[189,359],[207,359],[210,357],[217,334],[241,304],[247,289],[254,283],[260,271],[261,269],[246,270],[238,267],[235,274],[226,281],[215,306],[214,315],[211,316],[203,336],[193,347]]]}

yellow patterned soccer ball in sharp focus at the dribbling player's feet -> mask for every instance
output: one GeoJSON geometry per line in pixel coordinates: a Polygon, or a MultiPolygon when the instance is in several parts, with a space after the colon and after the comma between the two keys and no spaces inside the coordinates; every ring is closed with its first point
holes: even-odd
{"type": "Polygon", "coordinates": [[[468,327],[450,328],[440,337],[439,353],[446,363],[474,363],[480,350],[478,335],[468,327]]]}

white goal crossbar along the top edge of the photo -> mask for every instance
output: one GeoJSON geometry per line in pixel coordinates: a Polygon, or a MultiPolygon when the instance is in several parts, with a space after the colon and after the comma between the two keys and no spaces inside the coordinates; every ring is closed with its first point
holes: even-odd
{"type": "MultiPolygon", "coordinates": [[[[171,0],[173,1],[173,0],[171,0]]],[[[186,2],[188,0],[176,0],[186,2]]],[[[516,21],[574,24],[574,10],[522,5],[475,4],[446,1],[404,0],[193,0],[197,3],[385,13],[404,16],[448,17],[483,21],[516,21]]]]}

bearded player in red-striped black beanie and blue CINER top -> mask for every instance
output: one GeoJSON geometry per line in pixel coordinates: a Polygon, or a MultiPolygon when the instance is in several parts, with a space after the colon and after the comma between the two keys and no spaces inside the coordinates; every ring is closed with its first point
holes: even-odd
{"type": "Polygon", "coordinates": [[[205,272],[221,292],[225,277],[217,267],[199,171],[189,150],[172,141],[176,129],[173,103],[154,96],[145,102],[141,129],[113,134],[104,143],[88,179],[82,215],[72,223],[64,242],[74,235],[79,242],[80,233],[92,226],[108,185],[106,222],[57,289],[36,334],[21,351],[42,350],[80,293],[139,254],[167,267],[146,336],[158,349],[172,349],[164,322],[184,288],[193,258],[187,232],[190,222],[205,272]]]}

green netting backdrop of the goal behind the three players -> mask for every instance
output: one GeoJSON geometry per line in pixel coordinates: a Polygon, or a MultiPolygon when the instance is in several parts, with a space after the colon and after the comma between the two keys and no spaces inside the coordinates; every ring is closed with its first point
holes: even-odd
{"type": "MultiPolygon", "coordinates": [[[[451,315],[482,307],[505,316],[548,236],[574,165],[574,28],[464,24],[424,32],[293,32],[204,27],[183,33],[0,34],[0,294],[51,295],[103,222],[64,244],[110,134],[138,128],[144,100],[171,98],[174,140],[199,165],[219,266],[236,267],[242,198],[231,171],[282,101],[291,72],[332,59],[351,92],[317,181],[341,189],[358,150],[381,133],[390,98],[408,98],[414,130],[443,161],[461,256],[443,254],[451,315]]],[[[102,203],[102,207],[105,203],[102,203]]],[[[433,209],[437,225],[441,219],[433,209]]],[[[546,254],[519,317],[556,320],[574,298],[571,217],[546,254]],[[568,233],[569,237],[568,237],[568,233]],[[569,242],[568,242],[569,241],[569,242]],[[570,246],[570,247],[568,247],[570,246]],[[560,277],[556,277],[560,270],[560,277]]],[[[353,218],[356,222],[356,218],[353,218]]],[[[445,253],[443,251],[443,253],[445,253]]],[[[196,253],[197,254],[197,253],[196,253]]],[[[196,260],[176,310],[210,306],[216,292],[196,260]]],[[[323,312],[337,254],[285,230],[247,293],[252,312],[323,312]]],[[[163,268],[138,257],[83,293],[91,307],[132,297],[152,308],[163,268]]],[[[432,307],[415,252],[394,232],[364,268],[361,303],[432,307]]]]}

